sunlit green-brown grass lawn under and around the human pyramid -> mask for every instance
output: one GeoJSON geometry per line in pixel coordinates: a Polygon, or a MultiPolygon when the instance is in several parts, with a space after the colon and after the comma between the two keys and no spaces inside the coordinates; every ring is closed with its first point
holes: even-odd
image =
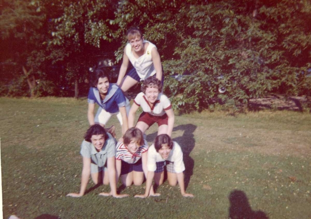
{"type": "MultiPolygon", "coordinates": [[[[227,116],[175,117],[173,139],[184,152],[187,192],[167,182],[159,197],[101,197],[106,185],[79,192],[80,144],[88,128],[87,101],[69,98],[0,98],[3,218],[311,219],[311,114],[260,111],[227,116]]],[[[117,135],[121,127],[117,118],[117,135]]],[[[151,144],[156,125],[147,131],[151,144]]],[[[120,183],[119,183],[120,185],[120,183]]]]}

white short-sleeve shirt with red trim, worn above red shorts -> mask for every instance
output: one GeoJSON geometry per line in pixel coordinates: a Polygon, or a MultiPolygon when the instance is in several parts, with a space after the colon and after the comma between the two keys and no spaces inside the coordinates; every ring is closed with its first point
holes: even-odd
{"type": "Polygon", "coordinates": [[[157,97],[157,100],[155,101],[155,104],[153,107],[150,107],[147,97],[143,92],[140,92],[136,98],[134,99],[134,102],[141,106],[142,111],[145,113],[149,113],[152,116],[163,116],[165,114],[165,110],[169,110],[172,108],[171,101],[168,99],[167,96],[165,96],[162,93],[159,93],[159,96],[157,97]]]}

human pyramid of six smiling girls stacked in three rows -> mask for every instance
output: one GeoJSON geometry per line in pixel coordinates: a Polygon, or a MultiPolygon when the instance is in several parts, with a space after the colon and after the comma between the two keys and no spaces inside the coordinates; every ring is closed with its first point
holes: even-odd
{"type": "Polygon", "coordinates": [[[174,126],[174,113],[170,100],[162,93],[163,68],[160,55],[154,44],[144,40],[138,28],[127,32],[128,44],[124,48],[123,61],[117,84],[109,84],[104,69],[96,69],[91,78],[92,87],[88,93],[87,118],[90,128],[86,131],[81,145],[83,169],[79,193],[69,193],[70,197],[81,197],[91,175],[94,184],[110,185],[110,192],[99,195],[123,198],[127,194],[117,194],[117,184],[125,186],[142,185],[146,178],[146,189],[138,198],[159,196],[155,193],[153,181],[161,185],[164,180],[164,168],[170,185],[177,183],[181,195],[186,193],[184,185],[185,165],[183,153],[177,142],[171,138],[174,126]],[[129,61],[133,65],[126,75],[129,61]],[[143,80],[141,91],[130,107],[123,92],[143,80]],[[95,104],[100,107],[94,117],[95,104]],[[138,108],[142,113],[134,127],[138,108]],[[116,140],[115,127],[105,129],[112,115],[116,115],[121,127],[122,137],[116,140]],[[149,147],[144,139],[145,131],[154,123],[158,132],[154,143],[149,147]]]}

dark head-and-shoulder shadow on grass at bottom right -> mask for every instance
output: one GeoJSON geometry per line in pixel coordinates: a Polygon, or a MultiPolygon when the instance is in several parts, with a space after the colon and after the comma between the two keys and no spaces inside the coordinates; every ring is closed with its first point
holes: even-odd
{"type": "Polygon", "coordinates": [[[263,211],[253,211],[246,194],[233,190],[229,195],[229,219],[269,219],[263,211]]]}

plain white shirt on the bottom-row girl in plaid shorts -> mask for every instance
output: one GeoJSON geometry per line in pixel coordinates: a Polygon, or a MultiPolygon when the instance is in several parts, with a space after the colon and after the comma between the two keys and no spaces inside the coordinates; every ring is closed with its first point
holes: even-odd
{"type": "MultiPolygon", "coordinates": [[[[173,167],[176,173],[183,172],[185,170],[185,164],[183,161],[183,152],[179,144],[173,141],[173,149],[171,150],[169,157],[166,159],[173,163],[173,167]]],[[[155,145],[152,144],[148,149],[148,171],[156,170],[156,162],[165,161],[162,156],[155,151],[155,145]]]]}

